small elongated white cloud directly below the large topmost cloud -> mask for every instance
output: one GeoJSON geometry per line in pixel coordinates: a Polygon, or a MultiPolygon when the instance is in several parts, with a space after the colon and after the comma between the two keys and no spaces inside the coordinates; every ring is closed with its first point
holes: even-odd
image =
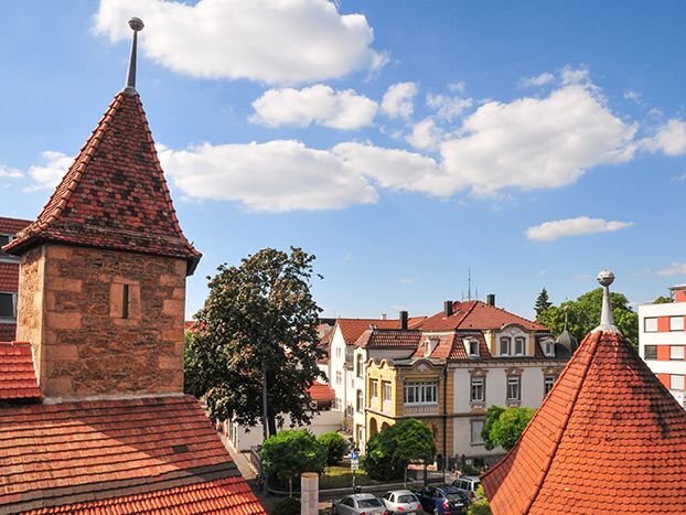
{"type": "Polygon", "coordinates": [[[335,92],[323,84],[302,89],[269,89],[253,103],[250,121],[270,127],[315,124],[332,129],[358,129],[372,125],[377,104],[352,89],[335,92]]]}

